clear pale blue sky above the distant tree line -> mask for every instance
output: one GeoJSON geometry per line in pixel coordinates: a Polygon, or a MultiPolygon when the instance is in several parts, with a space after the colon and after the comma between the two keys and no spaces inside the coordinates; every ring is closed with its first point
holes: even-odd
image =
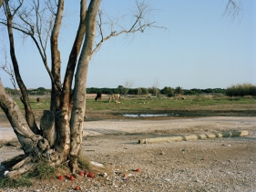
{"type": "MultiPolygon", "coordinates": [[[[148,2],[156,10],[151,19],[167,30],[151,28],[143,34],[120,35],[105,42],[91,60],[87,87],[115,88],[126,81],[132,81],[133,87],[150,87],[158,82],[159,88],[184,89],[256,85],[255,0],[242,0],[243,13],[235,20],[221,16],[227,0],[148,2]]],[[[63,72],[77,32],[78,5],[78,0],[67,3],[72,17],[66,15],[60,36],[63,72]]],[[[103,0],[101,6],[110,16],[120,16],[130,13],[135,1],[103,0]]],[[[34,45],[31,41],[22,45],[18,35],[15,41],[27,88],[50,88],[34,45]]],[[[48,59],[50,64],[50,56],[48,59]]],[[[13,87],[3,71],[0,75],[5,86],[13,87]]]]}

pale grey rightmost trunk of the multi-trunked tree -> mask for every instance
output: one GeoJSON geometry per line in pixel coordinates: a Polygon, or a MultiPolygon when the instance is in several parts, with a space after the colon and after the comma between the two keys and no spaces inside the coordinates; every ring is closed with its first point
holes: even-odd
{"type": "Polygon", "coordinates": [[[71,148],[70,148],[70,167],[74,173],[77,169],[77,158],[83,136],[83,122],[86,111],[86,87],[87,70],[92,56],[92,48],[96,35],[97,11],[101,0],[92,0],[87,10],[86,17],[86,38],[77,66],[75,76],[74,104],[71,115],[71,148]]]}

